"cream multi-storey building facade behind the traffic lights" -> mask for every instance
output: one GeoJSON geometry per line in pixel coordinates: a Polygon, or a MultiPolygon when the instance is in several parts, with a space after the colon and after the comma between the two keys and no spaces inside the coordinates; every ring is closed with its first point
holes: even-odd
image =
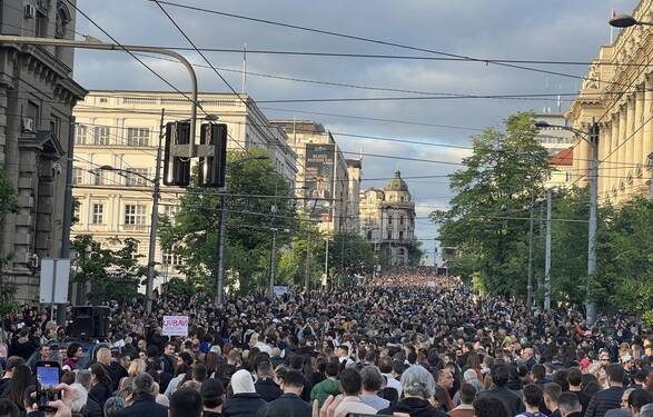
{"type": "MultiPolygon", "coordinates": [[[[218,122],[227,125],[229,150],[264,147],[270,151],[277,172],[294,181],[296,153],[285,132],[268,122],[254,100],[244,96],[246,107],[230,93],[205,92],[198,98],[207,113],[218,116],[218,122]]],[[[93,90],[75,107],[73,196],[80,206],[73,237],[90,234],[108,246],[113,238],[135,238],[142,262],[147,261],[152,183],[136,175],[98,168],[110,166],[154,179],[161,109],[166,112],[164,122],[190,117],[189,101],[175,92],[93,90]]],[[[198,119],[204,116],[198,112],[198,119]]],[[[161,183],[159,212],[172,217],[182,192],[181,188],[161,183]]],[[[155,261],[159,272],[156,286],[179,275],[179,257],[162,251],[158,242],[155,261]]]]}

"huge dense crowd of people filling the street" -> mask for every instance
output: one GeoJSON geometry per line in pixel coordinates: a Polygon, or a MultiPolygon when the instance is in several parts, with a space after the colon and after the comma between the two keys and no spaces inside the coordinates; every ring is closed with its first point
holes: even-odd
{"type": "Polygon", "coordinates": [[[431,278],[222,306],[164,296],[149,315],[112,302],[90,342],[26,307],[0,330],[0,417],[50,415],[33,395],[44,359],[62,369],[61,417],[653,416],[653,332],[636,317],[588,326],[431,278]],[[167,315],[189,317],[188,337],[164,336],[167,315]]]}

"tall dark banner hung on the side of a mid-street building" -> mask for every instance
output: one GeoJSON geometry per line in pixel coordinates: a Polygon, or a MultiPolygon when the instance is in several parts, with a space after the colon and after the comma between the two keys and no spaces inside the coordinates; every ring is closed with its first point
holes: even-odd
{"type": "Polygon", "coordinates": [[[306,212],[311,220],[330,221],[334,198],[334,143],[306,143],[306,212]]]}

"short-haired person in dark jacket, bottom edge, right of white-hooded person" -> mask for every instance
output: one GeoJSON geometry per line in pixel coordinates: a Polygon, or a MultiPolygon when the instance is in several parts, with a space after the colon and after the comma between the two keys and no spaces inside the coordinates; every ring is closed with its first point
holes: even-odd
{"type": "Polygon", "coordinates": [[[304,375],[296,370],[284,373],[284,395],[258,410],[258,417],[310,417],[313,409],[299,398],[304,389],[304,375]]]}

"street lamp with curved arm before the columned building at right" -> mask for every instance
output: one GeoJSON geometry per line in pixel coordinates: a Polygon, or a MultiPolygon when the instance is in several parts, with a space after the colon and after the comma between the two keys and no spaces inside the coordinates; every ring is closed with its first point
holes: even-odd
{"type": "MultiPolygon", "coordinates": [[[[617,17],[619,18],[619,17],[617,17]]],[[[617,19],[615,18],[615,19],[617,19]]],[[[611,24],[613,24],[613,20],[611,24]]],[[[633,19],[634,20],[634,19],[633,19]]],[[[636,21],[635,21],[636,22],[636,21]]],[[[640,22],[639,24],[646,24],[640,22]]],[[[632,26],[632,24],[631,24],[632,26]]],[[[590,145],[592,152],[590,158],[590,220],[587,227],[587,279],[591,279],[596,274],[596,207],[597,207],[597,183],[598,183],[598,123],[592,121],[590,131],[583,131],[567,126],[553,126],[547,121],[536,121],[535,127],[543,128],[560,128],[576,133],[582,140],[590,145]]],[[[547,291],[551,291],[548,288],[547,291]]],[[[586,288],[586,320],[587,324],[594,325],[596,321],[596,302],[590,296],[590,288],[586,288]]]]}

